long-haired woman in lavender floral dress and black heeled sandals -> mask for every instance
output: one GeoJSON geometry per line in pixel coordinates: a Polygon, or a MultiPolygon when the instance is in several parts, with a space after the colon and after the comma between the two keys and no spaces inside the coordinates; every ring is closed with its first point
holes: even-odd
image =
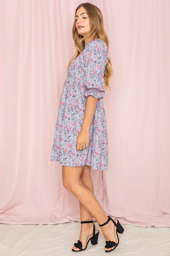
{"type": "Polygon", "coordinates": [[[72,32],[77,52],[68,63],[51,160],[62,164],[63,186],[80,204],[80,240],[72,251],[85,250],[90,240],[93,245],[97,244],[99,230],[93,224],[94,216],[107,240],[104,250],[110,252],[119,244],[117,232],[123,233],[124,229],[117,219],[113,220],[102,210],[94,196],[91,177],[91,167],[100,171],[108,168],[102,98],[105,84],[110,89],[113,70],[100,9],[90,3],[78,5],[72,32]]]}

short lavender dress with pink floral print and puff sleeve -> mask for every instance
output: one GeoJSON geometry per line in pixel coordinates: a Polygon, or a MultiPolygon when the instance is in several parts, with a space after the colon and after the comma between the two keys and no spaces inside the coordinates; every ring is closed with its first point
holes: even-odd
{"type": "Polygon", "coordinates": [[[108,169],[107,124],[102,100],[106,89],[104,71],[107,61],[106,43],[94,39],[70,64],[59,103],[51,161],[66,166],[89,165],[99,171],[108,169]],[[88,95],[98,98],[89,130],[89,144],[87,148],[76,151],[88,95]]]}

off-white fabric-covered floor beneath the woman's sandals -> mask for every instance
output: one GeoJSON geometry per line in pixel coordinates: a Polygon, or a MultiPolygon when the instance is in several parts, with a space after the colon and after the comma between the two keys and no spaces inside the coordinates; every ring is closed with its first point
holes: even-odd
{"type": "Polygon", "coordinates": [[[170,228],[137,227],[122,224],[123,234],[118,234],[118,247],[106,254],[105,237],[100,231],[98,244],[89,241],[83,252],[72,252],[79,240],[80,222],[61,224],[11,225],[0,223],[0,256],[70,256],[123,255],[123,256],[170,256],[170,228]],[[77,254],[76,254],[77,255],[77,254]]]}

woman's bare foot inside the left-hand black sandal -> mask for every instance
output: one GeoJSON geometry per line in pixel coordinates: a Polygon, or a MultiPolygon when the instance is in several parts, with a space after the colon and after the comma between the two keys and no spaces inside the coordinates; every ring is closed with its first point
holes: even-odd
{"type": "MultiPolygon", "coordinates": [[[[96,227],[95,227],[95,230],[96,230],[96,227]]],[[[93,223],[83,223],[81,225],[80,238],[79,238],[79,240],[82,242],[82,249],[84,249],[86,246],[87,237],[92,234],[93,234],[93,223]]],[[[72,249],[74,249],[75,251],[80,251],[80,249],[75,246],[73,246],[72,249]]]]}

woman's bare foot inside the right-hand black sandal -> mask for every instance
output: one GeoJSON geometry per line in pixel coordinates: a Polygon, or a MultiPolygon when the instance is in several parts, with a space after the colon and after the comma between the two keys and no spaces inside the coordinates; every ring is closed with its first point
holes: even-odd
{"type": "MultiPolygon", "coordinates": [[[[107,220],[106,220],[107,221],[107,220]]],[[[116,242],[115,232],[114,232],[115,224],[110,220],[106,225],[100,227],[106,241],[114,241],[116,242]]],[[[105,251],[110,251],[111,249],[115,248],[115,246],[111,248],[104,248],[105,251]]]]}

